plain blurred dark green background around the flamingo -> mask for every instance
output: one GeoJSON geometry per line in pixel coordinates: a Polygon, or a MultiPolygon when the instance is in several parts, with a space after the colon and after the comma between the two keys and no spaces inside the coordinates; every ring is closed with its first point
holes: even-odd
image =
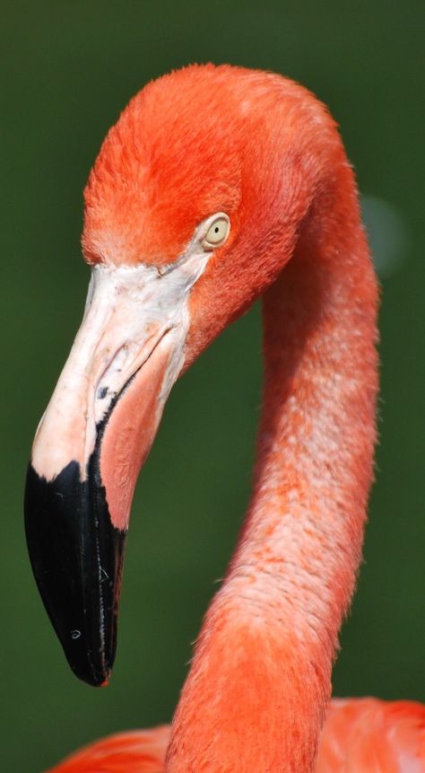
{"type": "Polygon", "coordinates": [[[168,721],[241,523],[261,382],[254,309],[177,384],[134,502],[108,690],[69,671],[22,528],[30,444],[82,316],[82,187],[147,80],[193,61],[276,70],[339,121],[382,265],[381,444],[338,694],[425,698],[423,2],[34,2],[2,10],[2,769],[39,771],[168,721]]]}

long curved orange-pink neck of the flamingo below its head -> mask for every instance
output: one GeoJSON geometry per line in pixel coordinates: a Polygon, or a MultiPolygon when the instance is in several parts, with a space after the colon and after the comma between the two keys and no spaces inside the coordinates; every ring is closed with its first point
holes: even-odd
{"type": "Polygon", "coordinates": [[[347,194],[326,220],[313,207],[265,294],[254,495],[178,706],[169,773],[314,769],[375,442],[377,290],[343,173],[347,194]]]}

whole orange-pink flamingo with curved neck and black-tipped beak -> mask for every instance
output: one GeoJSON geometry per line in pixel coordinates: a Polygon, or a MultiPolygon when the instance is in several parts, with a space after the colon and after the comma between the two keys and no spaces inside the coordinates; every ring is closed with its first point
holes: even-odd
{"type": "Polygon", "coordinates": [[[149,83],[91,171],[82,248],[82,327],[25,493],[34,575],[82,680],[108,683],[135,481],[169,391],[259,296],[265,385],[251,502],[171,728],[56,773],[425,770],[425,707],[330,702],[372,479],[378,300],[334,120],[281,75],[149,83]]]}

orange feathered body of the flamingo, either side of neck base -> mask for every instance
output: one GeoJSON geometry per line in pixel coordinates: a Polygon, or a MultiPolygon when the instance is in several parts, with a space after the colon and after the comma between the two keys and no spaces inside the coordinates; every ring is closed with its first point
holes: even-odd
{"type": "MultiPolygon", "coordinates": [[[[163,773],[169,727],[117,733],[76,752],[51,773],[163,773]]],[[[331,701],[316,773],[422,773],[425,707],[377,698],[331,701]]]]}

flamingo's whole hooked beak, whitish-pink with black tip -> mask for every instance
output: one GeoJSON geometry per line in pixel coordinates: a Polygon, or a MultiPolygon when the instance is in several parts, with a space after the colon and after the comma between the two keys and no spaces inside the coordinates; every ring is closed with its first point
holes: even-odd
{"type": "Polygon", "coordinates": [[[74,673],[108,683],[130,506],[183,364],[187,277],[92,270],[82,327],[33,444],[32,569],[74,673]],[[186,281],[186,284],[185,284],[186,281]]]}

